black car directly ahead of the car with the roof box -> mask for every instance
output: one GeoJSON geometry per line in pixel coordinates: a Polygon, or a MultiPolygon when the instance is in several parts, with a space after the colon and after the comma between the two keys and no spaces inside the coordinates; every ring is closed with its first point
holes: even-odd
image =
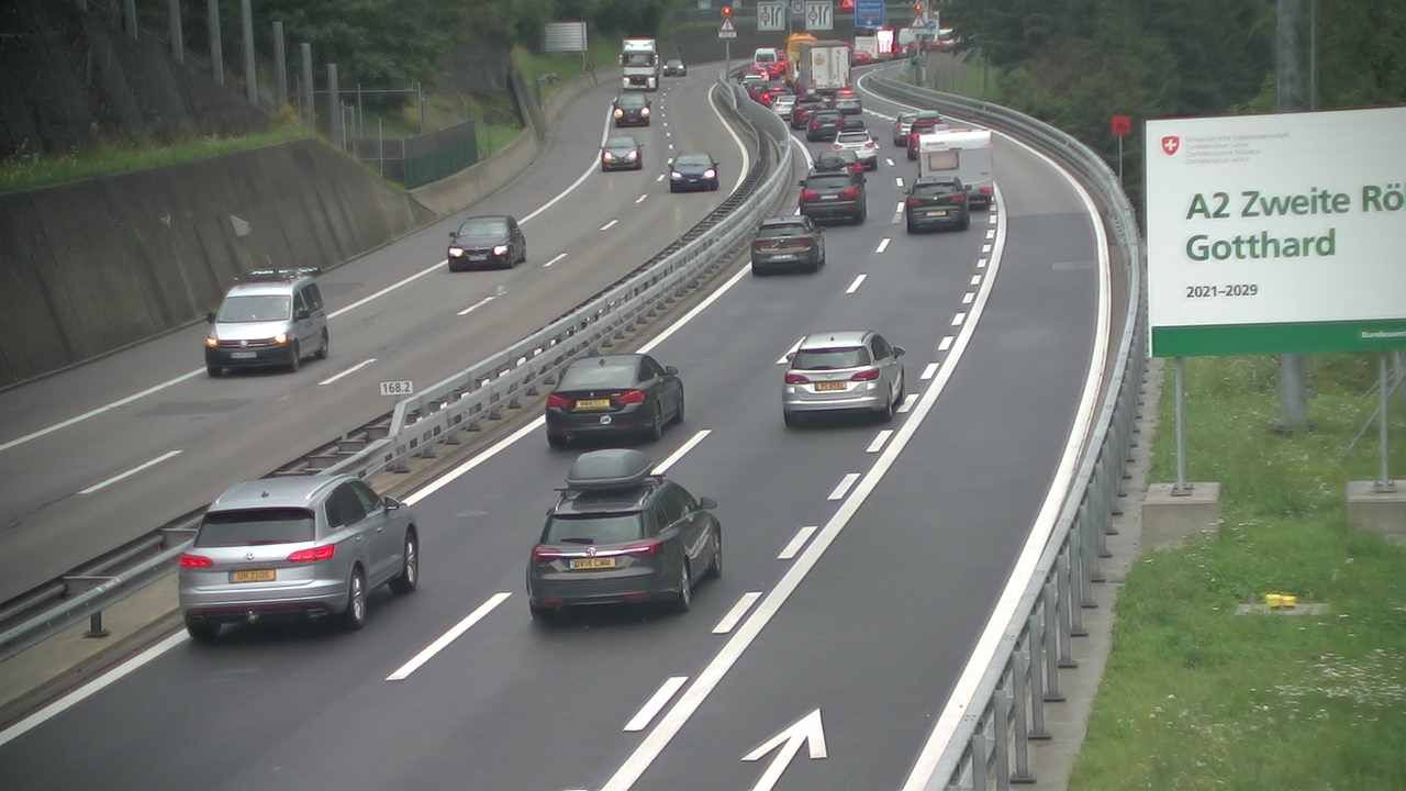
{"type": "Polygon", "coordinates": [[[650,355],[583,357],[561,374],[547,396],[547,442],[565,448],[582,436],[645,434],[683,422],[683,383],[673,366],[650,355]]]}

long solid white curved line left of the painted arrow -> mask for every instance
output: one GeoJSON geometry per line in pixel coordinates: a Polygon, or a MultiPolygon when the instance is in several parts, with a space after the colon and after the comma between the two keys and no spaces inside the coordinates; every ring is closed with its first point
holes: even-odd
{"type": "MultiPolygon", "coordinates": [[[[1001,200],[1000,189],[997,189],[995,200],[1001,200]]],[[[1001,234],[997,236],[997,246],[1002,249],[1005,246],[1005,222],[1001,222],[1001,234]]],[[[993,272],[1000,270],[1000,263],[1001,259],[998,253],[993,259],[993,272]]],[[[970,342],[986,301],[990,297],[993,283],[995,283],[994,276],[981,284],[981,296],[972,308],[973,318],[966,327],[962,328],[962,334],[957,336],[953,362],[962,357],[962,353],[970,342]]],[[[679,701],[673,704],[668,712],[665,712],[659,723],[650,730],[650,735],[640,742],[634,752],[630,753],[630,757],[620,764],[620,767],[610,776],[606,784],[599,788],[599,791],[628,791],[634,787],[636,781],[644,776],[645,770],[650,768],[650,764],[659,757],[673,736],[683,729],[689,718],[693,716],[693,712],[703,705],[703,701],[706,701],[713,690],[717,688],[733,666],[737,664],[737,660],[756,640],[756,636],[762,633],[766,624],[776,616],[782,605],[786,604],[786,600],[796,593],[810,570],[820,563],[820,559],[825,555],[830,545],[839,538],[839,533],[844,532],[845,526],[859,511],[859,507],[863,505],[869,494],[879,486],[879,481],[883,480],[883,476],[890,467],[893,467],[898,455],[903,453],[908,441],[912,439],[912,435],[917,434],[918,428],[922,425],[922,419],[938,403],[938,397],[952,380],[952,372],[955,369],[955,365],[943,369],[942,376],[932,384],[932,387],[928,387],[922,393],[922,398],[920,398],[918,405],[914,407],[914,417],[904,421],[903,426],[898,428],[893,441],[887,448],[884,448],[883,453],[879,455],[879,459],[875,460],[873,467],[869,469],[865,479],[858,487],[855,487],[855,491],[851,493],[845,502],[835,511],[835,515],[825,522],[824,529],[820,531],[815,540],[811,542],[811,545],[801,553],[800,559],[796,560],[796,563],[793,563],[785,574],[782,574],[776,587],[773,587],[762,598],[762,601],[756,605],[756,609],[754,609],[741,626],[733,632],[733,636],[728,638],[727,643],[724,643],[721,649],[718,649],[717,654],[714,654],[703,671],[699,673],[693,684],[683,691],[679,701]]],[[[981,667],[984,667],[984,664],[981,667]]]]}

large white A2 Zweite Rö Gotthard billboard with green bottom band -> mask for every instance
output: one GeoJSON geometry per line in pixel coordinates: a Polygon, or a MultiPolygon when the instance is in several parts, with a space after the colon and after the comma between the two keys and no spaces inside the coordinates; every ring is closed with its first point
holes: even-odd
{"type": "Polygon", "coordinates": [[[1406,107],[1146,125],[1160,357],[1406,348],[1406,107]]]}

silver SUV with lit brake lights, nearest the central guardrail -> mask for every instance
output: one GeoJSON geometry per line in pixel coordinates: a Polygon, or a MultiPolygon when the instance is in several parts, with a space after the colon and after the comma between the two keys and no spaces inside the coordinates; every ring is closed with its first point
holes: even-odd
{"type": "Polygon", "coordinates": [[[415,512],[352,476],[260,479],[209,505],[180,557],[180,607],[197,640],[221,625],[335,616],[366,625],[367,591],[419,584],[415,512]]]}

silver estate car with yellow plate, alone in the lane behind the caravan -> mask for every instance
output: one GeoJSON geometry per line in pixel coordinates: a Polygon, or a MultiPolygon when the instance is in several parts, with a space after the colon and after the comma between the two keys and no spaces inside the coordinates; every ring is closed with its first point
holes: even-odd
{"type": "Polygon", "coordinates": [[[903,346],[877,332],[815,332],[789,355],[782,415],[796,425],[814,412],[870,412],[893,419],[903,403],[903,346]]]}

